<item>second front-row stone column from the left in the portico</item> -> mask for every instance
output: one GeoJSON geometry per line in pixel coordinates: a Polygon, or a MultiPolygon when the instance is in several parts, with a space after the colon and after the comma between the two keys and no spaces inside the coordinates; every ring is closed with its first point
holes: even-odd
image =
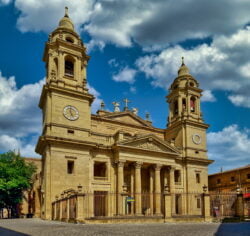
{"type": "Polygon", "coordinates": [[[135,214],[142,215],[141,209],[141,162],[135,163],[135,214]]]}

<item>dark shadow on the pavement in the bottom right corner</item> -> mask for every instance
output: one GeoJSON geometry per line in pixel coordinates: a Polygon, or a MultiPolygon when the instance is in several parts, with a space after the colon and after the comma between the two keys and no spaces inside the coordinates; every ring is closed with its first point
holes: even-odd
{"type": "Polygon", "coordinates": [[[222,223],[215,236],[249,236],[250,223],[222,223]]]}

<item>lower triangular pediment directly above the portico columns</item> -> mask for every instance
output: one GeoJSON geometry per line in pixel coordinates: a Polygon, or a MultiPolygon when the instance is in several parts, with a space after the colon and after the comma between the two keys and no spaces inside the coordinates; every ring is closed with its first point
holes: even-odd
{"type": "Polygon", "coordinates": [[[177,148],[152,134],[136,137],[126,141],[120,141],[117,143],[117,146],[180,155],[177,148]]]}

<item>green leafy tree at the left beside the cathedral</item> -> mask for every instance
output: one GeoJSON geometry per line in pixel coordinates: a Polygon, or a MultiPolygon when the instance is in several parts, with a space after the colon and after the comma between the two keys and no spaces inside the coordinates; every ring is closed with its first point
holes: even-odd
{"type": "Polygon", "coordinates": [[[35,171],[34,164],[12,151],[0,154],[0,209],[7,208],[12,217],[16,216],[17,205],[22,202],[23,191],[32,186],[35,171]]]}

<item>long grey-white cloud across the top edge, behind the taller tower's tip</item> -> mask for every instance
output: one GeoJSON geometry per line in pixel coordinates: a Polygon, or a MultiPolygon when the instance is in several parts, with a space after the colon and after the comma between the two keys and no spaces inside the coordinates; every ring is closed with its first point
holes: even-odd
{"type": "Polygon", "coordinates": [[[249,23],[250,8],[247,0],[13,1],[21,13],[17,25],[22,32],[51,31],[67,5],[76,28],[87,31],[92,43],[127,47],[136,41],[146,50],[190,38],[230,35],[249,23]]]}

